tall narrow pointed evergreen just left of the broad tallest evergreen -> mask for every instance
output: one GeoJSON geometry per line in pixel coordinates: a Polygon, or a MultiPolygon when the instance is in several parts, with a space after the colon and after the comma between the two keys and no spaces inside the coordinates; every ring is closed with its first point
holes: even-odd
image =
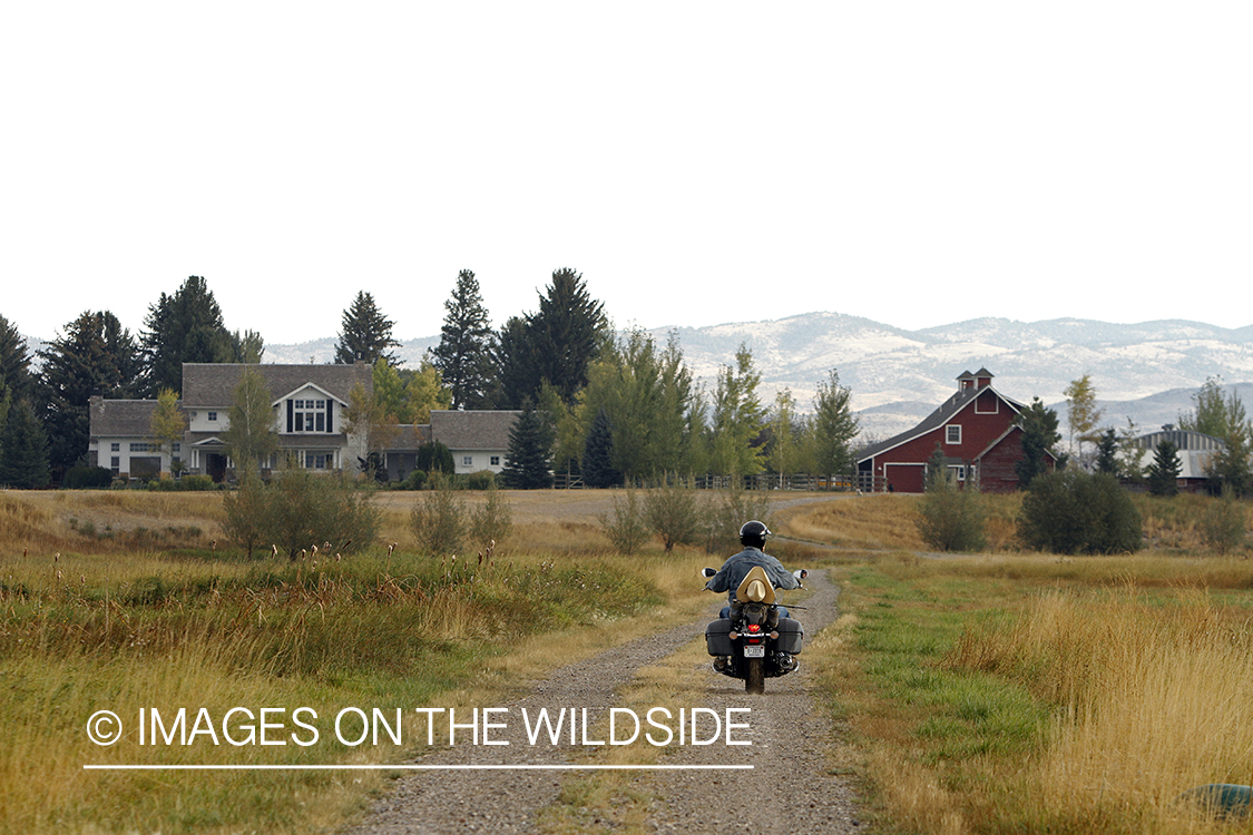
{"type": "Polygon", "coordinates": [[[484,408],[492,378],[492,332],[474,272],[461,270],[444,307],[447,315],[440,344],[431,352],[432,364],[452,393],[452,408],[484,408]]]}

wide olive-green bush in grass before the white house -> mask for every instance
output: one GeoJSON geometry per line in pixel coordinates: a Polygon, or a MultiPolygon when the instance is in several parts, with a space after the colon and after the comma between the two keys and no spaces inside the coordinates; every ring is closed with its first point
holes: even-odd
{"type": "Polygon", "coordinates": [[[361,548],[378,535],[373,494],[341,476],[304,469],[282,472],[271,483],[244,477],[223,499],[226,532],[251,556],[267,543],[296,558],[330,543],[335,551],[361,548]]]}

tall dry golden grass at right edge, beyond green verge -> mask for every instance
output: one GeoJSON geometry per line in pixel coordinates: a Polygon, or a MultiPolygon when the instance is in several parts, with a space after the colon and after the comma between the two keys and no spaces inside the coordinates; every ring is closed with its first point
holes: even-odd
{"type": "Polygon", "coordinates": [[[1247,608],[1202,593],[1165,603],[1049,593],[1010,628],[962,636],[946,663],[996,672],[1056,706],[1029,771],[1027,814],[1065,809],[1076,821],[1170,832],[1187,821],[1184,790],[1253,781],[1250,622],[1247,608]]]}

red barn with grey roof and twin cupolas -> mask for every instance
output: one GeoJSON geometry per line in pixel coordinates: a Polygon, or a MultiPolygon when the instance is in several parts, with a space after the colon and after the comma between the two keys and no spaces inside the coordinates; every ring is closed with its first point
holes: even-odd
{"type": "MultiPolygon", "coordinates": [[[[957,377],[957,392],[908,432],[876,443],[857,459],[858,484],[870,491],[921,493],[926,464],[938,446],[959,484],[990,493],[1017,489],[1025,407],[992,388],[992,372],[957,377]]],[[[1051,467],[1054,461],[1049,459],[1051,467]]]]}

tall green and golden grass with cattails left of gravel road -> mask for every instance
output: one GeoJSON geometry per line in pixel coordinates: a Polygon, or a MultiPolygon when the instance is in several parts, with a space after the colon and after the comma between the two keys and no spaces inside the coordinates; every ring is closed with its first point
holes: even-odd
{"type": "Polygon", "coordinates": [[[84,772],[83,765],[387,762],[410,749],[357,750],[326,734],[308,749],[204,739],[153,747],[139,746],[133,727],[123,744],[98,747],[85,722],[100,709],[134,721],[140,707],[167,716],[207,707],[221,717],[236,706],[309,705],[326,717],[377,705],[412,715],[437,694],[476,681],[485,660],[528,635],[611,622],[662,601],[643,572],[614,560],[376,553],[292,565],[149,555],[125,565],[63,555],[18,557],[0,572],[0,829],[11,831],[335,824],[363,802],[351,780],[307,772],[157,779],[84,772]]]}

